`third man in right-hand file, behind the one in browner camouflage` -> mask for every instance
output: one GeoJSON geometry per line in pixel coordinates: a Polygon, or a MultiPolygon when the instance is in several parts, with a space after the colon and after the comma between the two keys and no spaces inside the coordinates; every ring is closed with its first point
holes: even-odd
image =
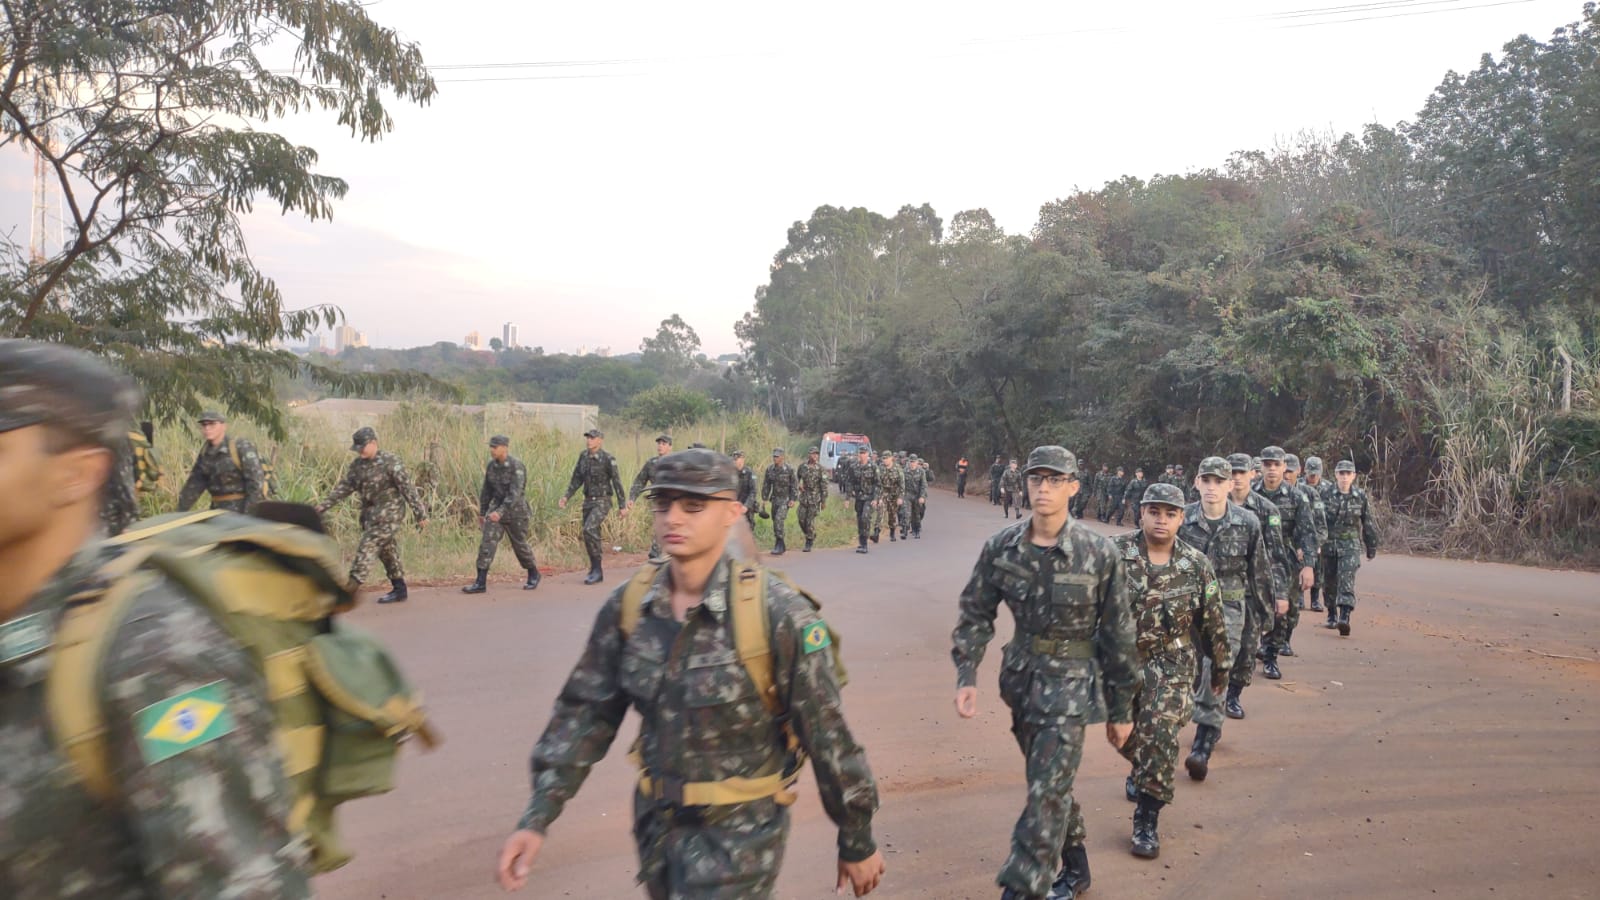
{"type": "MultiPolygon", "coordinates": [[[[1274,604],[1272,557],[1267,554],[1266,533],[1261,519],[1229,500],[1234,469],[1221,456],[1200,461],[1195,485],[1200,500],[1184,508],[1184,524],[1178,540],[1206,554],[1222,588],[1222,621],[1227,626],[1229,658],[1237,660],[1245,645],[1246,623],[1251,617],[1270,617],[1274,604]]],[[[1246,657],[1251,652],[1245,652],[1246,657]]],[[[1238,692],[1232,685],[1229,669],[1229,700],[1237,703],[1238,692]]],[[[1189,777],[1203,781],[1210,770],[1211,751],[1222,737],[1222,703],[1211,692],[1219,681],[1210,658],[1200,661],[1195,679],[1195,741],[1184,765],[1189,777]]],[[[1242,690],[1242,689],[1238,689],[1242,690]]]]}

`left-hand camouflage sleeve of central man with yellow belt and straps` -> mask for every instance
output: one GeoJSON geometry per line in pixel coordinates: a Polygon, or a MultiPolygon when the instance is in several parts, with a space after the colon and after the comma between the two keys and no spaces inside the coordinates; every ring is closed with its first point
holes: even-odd
{"type": "Polygon", "coordinates": [[[618,588],[595,615],[584,655],[566,677],[550,724],[533,746],[533,794],[517,820],[518,830],[544,834],[616,740],[629,705],[619,677],[621,607],[622,588],[618,588]]]}

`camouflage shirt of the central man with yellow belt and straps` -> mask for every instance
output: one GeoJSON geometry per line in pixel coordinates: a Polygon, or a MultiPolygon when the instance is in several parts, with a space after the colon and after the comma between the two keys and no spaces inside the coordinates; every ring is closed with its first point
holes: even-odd
{"type": "MultiPolygon", "coordinates": [[[[662,565],[627,637],[619,613],[626,588],[611,593],[533,748],[533,794],[517,828],[549,830],[589,769],[606,754],[630,706],[642,717],[635,746],[653,777],[718,781],[782,769],[781,730],[734,649],[730,567],[730,557],[723,557],[701,604],[678,623],[672,617],[670,567],[662,565]]],[[[811,602],[782,580],[763,577],[773,684],[779,697],[789,698],[822,809],[838,826],[838,857],[864,860],[877,852],[872,815],[878,793],[866,753],[845,724],[834,650],[805,641],[821,628],[811,602]]],[[[771,890],[787,834],[787,807],[771,798],[702,807],[704,825],[678,828],[640,791],[634,801],[640,881],[678,881],[670,886],[672,897],[765,897],[771,890]],[[677,858],[669,865],[667,855],[677,858]]]]}

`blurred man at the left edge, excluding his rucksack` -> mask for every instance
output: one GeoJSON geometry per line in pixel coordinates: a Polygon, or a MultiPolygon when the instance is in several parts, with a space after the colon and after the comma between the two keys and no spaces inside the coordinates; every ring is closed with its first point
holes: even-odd
{"type": "Polygon", "coordinates": [[[142,570],[96,676],[115,796],[93,798],[59,748],[53,647],[70,597],[117,552],[96,544],[98,508],[136,404],[88,354],[0,341],[0,556],[35,564],[0,583],[0,897],[310,897],[267,685],[210,607],[158,570],[142,570]],[[221,714],[157,753],[141,719],[197,692],[221,714]]]}

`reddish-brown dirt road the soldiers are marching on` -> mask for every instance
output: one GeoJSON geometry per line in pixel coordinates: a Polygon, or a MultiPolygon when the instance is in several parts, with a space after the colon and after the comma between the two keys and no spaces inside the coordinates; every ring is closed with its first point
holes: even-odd
{"type": "MultiPolygon", "coordinates": [[[[1003,522],[982,498],[931,503],[920,541],[790,552],[782,567],[845,637],[846,708],[883,801],[875,897],[997,897],[1022,802],[995,695],[1010,621],[979,673],[976,721],[950,703],[949,634],[978,546],[1003,522]]],[[[344,814],[358,855],[320,879],[323,897],[499,895],[491,870],[526,801],[528,751],[605,596],[579,578],[533,594],[414,591],[355,613],[402,653],[448,743],[408,756],[397,793],[344,814]]],[[[1229,722],[1211,777],[1179,769],[1160,860],[1126,852],[1126,764],[1091,729],[1075,791],[1090,897],[1600,897],[1600,575],[1379,556],[1362,569],[1350,637],[1315,615],[1285,679],[1245,692],[1248,717],[1229,722]]],[[[622,749],[552,828],[523,897],[642,897],[622,749]]],[[[779,895],[832,895],[834,830],[810,777],[800,793],[779,895]]]]}

